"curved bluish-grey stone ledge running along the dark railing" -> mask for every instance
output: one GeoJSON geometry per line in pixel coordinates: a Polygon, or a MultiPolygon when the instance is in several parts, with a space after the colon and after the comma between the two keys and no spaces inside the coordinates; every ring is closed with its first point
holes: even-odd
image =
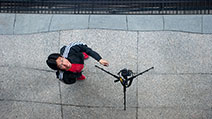
{"type": "Polygon", "coordinates": [[[0,34],[33,34],[77,29],[212,33],[212,15],[0,14],[0,34]]]}

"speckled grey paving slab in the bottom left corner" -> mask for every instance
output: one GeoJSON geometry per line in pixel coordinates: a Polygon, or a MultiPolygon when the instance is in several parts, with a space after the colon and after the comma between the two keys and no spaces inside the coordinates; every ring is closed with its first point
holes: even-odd
{"type": "Polygon", "coordinates": [[[1,119],[62,119],[59,105],[0,101],[0,107],[1,119]]]}

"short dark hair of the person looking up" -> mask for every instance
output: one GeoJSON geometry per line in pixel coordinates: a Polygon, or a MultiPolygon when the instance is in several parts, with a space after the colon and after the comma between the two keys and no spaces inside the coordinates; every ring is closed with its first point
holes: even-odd
{"type": "Polygon", "coordinates": [[[58,70],[56,63],[58,57],[62,56],[59,53],[52,53],[48,56],[48,59],[46,60],[47,65],[53,70],[58,70]]]}

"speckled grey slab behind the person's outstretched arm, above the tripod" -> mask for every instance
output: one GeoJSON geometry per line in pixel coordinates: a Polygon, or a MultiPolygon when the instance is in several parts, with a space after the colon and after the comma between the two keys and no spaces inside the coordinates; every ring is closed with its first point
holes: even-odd
{"type": "MultiPolygon", "coordinates": [[[[74,30],[60,32],[60,47],[74,41],[85,42],[103,59],[110,62],[107,69],[118,73],[123,68],[129,68],[136,72],[137,62],[137,33],[127,31],[110,30],[74,30]],[[115,66],[115,67],[114,67],[115,66]]],[[[99,64],[90,58],[87,70],[95,72],[94,65],[99,64]]]]}

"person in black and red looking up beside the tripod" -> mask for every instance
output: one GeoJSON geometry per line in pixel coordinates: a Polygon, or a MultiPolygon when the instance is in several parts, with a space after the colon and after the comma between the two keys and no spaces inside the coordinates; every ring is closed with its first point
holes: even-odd
{"type": "Polygon", "coordinates": [[[48,56],[46,63],[53,69],[57,70],[56,76],[65,84],[73,84],[76,80],[84,80],[86,77],[82,74],[84,60],[89,56],[94,58],[103,66],[108,66],[108,61],[94,50],[82,42],[70,43],[63,46],[60,53],[52,53],[48,56]]]}

